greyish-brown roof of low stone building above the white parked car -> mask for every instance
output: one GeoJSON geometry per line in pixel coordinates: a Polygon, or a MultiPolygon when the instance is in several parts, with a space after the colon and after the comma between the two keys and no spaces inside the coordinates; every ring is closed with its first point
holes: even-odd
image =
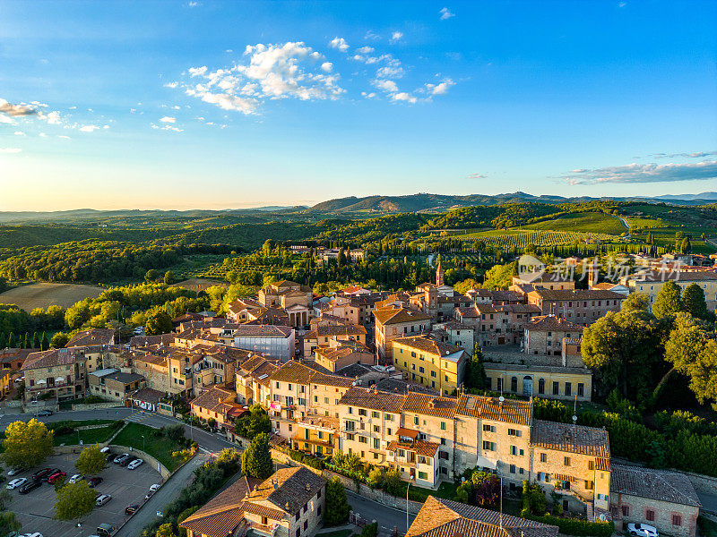
{"type": "Polygon", "coordinates": [[[687,475],[641,466],[613,465],[610,491],[684,506],[702,507],[687,475]]]}

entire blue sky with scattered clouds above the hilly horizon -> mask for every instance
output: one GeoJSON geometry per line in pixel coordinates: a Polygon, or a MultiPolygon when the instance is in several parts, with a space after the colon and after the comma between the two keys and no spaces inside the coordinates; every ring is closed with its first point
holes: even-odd
{"type": "Polygon", "coordinates": [[[2,210],[717,190],[713,2],[0,0],[2,210]]]}

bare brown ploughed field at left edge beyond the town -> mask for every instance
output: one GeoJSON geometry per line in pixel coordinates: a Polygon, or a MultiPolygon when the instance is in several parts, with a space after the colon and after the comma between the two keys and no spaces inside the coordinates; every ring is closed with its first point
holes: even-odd
{"type": "Polygon", "coordinates": [[[103,291],[101,287],[79,284],[31,284],[15,287],[0,294],[0,303],[17,304],[28,312],[35,308],[47,308],[53,304],[69,308],[73,303],[88,297],[95,298],[103,291]]]}

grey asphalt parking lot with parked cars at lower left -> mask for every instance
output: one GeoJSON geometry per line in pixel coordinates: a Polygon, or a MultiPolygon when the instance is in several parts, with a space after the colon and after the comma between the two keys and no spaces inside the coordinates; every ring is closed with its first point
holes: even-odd
{"type": "MultiPolygon", "coordinates": [[[[30,479],[32,473],[40,468],[59,468],[67,473],[69,479],[73,473],[77,473],[74,468],[76,459],[77,454],[51,456],[40,467],[26,470],[9,479],[17,477],[30,479]]],[[[82,521],[82,535],[85,537],[96,533],[98,524],[112,524],[116,528],[123,524],[128,518],[125,516],[125,507],[130,504],[142,506],[144,495],[150,486],[162,482],[157,470],[147,463],[135,470],[127,470],[125,467],[109,463],[99,477],[104,481],[99,483],[95,490],[99,494],[110,494],[112,499],[102,507],[95,507],[90,516],[82,521]]],[[[15,512],[18,520],[22,523],[22,533],[39,532],[44,537],[79,537],[81,535],[77,524],[53,520],[56,500],[54,486],[43,483],[38,489],[30,491],[28,494],[20,494],[18,490],[9,492],[13,496],[9,509],[15,512]]]]}

